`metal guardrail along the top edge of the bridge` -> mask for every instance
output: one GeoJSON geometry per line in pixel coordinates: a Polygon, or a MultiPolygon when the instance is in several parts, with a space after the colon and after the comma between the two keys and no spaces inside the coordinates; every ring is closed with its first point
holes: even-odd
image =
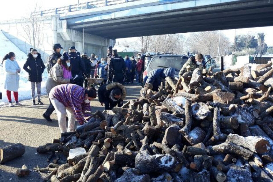
{"type": "Polygon", "coordinates": [[[83,9],[104,7],[104,6],[134,2],[134,1],[140,1],[140,0],[93,0],[93,1],[87,1],[86,3],[79,3],[79,4],[64,6],[64,7],[57,7],[55,9],[37,11],[32,14],[34,16],[58,15],[58,14],[64,14],[64,13],[73,12],[73,11],[80,11],[83,9]]]}

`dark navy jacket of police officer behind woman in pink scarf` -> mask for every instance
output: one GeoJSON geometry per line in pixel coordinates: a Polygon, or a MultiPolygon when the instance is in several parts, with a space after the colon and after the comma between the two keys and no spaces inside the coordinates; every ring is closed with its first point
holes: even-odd
{"type": "Polygon", "coordinates": [[[69,53],[70,64],[71,64],[71,73],[72,76],[78,75],[82,77],[82,73],[87,75],[84,62],[77,53],[69,53]]]}

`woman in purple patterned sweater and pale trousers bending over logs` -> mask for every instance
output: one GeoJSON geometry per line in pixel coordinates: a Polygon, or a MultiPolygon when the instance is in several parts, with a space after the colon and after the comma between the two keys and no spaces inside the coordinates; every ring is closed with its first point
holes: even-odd
{"type": "Polygon", "coordinates": [[[51,89],[49,99],[57,113],[61,133],[73,131],[75,120],[80,125],[87,122],[84,117],[90,115],[84,111],[90,111],[90,101],[96,97],[95,89],[85,89],[74,84],[62,84],[51,89]],[[66,127],[66,114],[68,115],[68,128],[66,127]]]}

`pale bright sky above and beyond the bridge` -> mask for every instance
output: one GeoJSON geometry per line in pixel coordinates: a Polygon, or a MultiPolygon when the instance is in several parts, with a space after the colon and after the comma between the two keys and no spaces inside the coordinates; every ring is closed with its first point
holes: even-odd
{"type": "MultiPolygon", "coordinates": [[[[0,11],[0,21],[9,20],[16,18],[23,18],[30,14],[35,5],[43,9],[51,9],[55,7],[62,7],[77,3],[84,3],[86,0],[5,0],[2,2],[2,8],[0,11]],[[9,8],[10,7],[10,8],[9,8]]],[[[273,26],[270,27],[258,27],[258,28],[243,28],[236,29],[236,34],[253,34],[257,35],[259,32],[264,32],[265,42],[268,46],[273,46],[273,26]]],[[[234,29],[232,30],[222,30],[222,34],[226,35],[231,42],[234,41],[234,29]]],[[[189,36],[189,33],[184,34],[186,37],[189,36]]],[[[137,40],[137,38],[127,38],[128,42],[137,40]]],[[[117,42],[122,42],[122,40],[117,39],[117,42]]]]}

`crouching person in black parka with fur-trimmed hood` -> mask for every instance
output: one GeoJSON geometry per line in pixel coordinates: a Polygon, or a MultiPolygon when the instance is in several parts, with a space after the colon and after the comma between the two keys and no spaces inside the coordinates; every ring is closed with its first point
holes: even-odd
{"type": "Polygon", "coordinates": [[[126,88],[118,83],[113,82],[111,84],[104,84],[99,87],[98,90],[99,102],[105,110],[111,110],[115,106],[121,107],[123,105],[123,100],[126,97],[126,88]]]}

